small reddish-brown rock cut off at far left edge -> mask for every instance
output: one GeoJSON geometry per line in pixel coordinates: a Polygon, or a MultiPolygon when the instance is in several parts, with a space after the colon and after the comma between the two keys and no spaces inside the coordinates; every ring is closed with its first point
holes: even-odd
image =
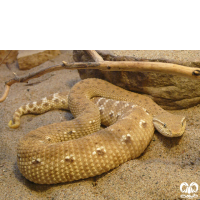
{"type": "Polygon", "coordinates": [[[13,63],[15,60],[17,60],[18,50],[0,50],[0,63],[3,61],[2,64],[6,63],[13,63]],[[9,55],[8,55],[9,54],[9,55]],[[8,55],[8,57],[5,59],[5,57],[8,55]]]}

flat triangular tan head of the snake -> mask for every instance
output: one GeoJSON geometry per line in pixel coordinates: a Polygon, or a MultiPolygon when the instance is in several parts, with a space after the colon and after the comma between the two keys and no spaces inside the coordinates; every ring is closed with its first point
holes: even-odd
{"type": "Polygon", "coordinates": [[[157,131],[166,137],[179,137],[185,131],[186,119],[181,115],[163,113],[153,118],[157,131]]]}

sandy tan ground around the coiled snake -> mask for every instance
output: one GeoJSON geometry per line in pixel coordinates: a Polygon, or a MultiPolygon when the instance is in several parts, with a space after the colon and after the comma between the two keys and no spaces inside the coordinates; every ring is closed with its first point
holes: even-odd
{"type": "MultiPolygon", "coordinates": [[[[19,76],[43,67],[73,61],[72,51],[62,51],[53,60],[29,70],[11,68],[19,76]]],[[[185,54],[187,56],[187,54],[185,54]]],[[[13,78],[5,65],[0,66],[0,95],[4,82],[13,78]]],[[[181,199],[180,184],[196,182],[200,199],[200,105],[171,111],[184,115],[187,127],[180,138],[166,138],[155,132],[148,148],[138,159],[131,160],[100,176],[57,185],[37,185],[26,180],[16,163],[17,143],[29,131],[40,126],[72,118],[67,111],[50,111],[43,115],[26,115],[18,129],[8,122],[22,104],[39,100],[55,92],[69,90],[80,81],[78,72],[61,70],[27,83],[12,85],[8,98],[0,103],[0,199],[181,199]]]]}

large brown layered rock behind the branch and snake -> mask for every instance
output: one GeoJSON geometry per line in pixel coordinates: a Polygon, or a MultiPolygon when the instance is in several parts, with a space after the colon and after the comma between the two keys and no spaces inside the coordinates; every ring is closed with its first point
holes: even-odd
{"type": "MultiPolygon", "coordinates": [[[[108,61],[168,62],[200,68],[200,51],[97,51],[108,61]],[[158,53],[159,52],[159,53],[158,53]],[[134,56],[125,56],[126,54],[134,56]]],[[[74,60],[93,61],[83,51],[74,51],[74,60]]],[[[147,94],[164,109],[183,109],[200,103],[200,81],[156,72],[107,72],[78,70],[81,79],[101,78],[124,89],[147,94]]]]}

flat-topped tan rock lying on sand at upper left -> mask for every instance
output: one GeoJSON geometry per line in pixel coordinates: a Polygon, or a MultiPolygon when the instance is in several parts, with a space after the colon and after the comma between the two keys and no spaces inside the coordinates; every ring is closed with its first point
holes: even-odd
{"type": "Polygon", "coordinates": [[[17,56],[19,69],[31,69],[55,58],[59,54],[60,50],[19,50],[17,56]]]}

